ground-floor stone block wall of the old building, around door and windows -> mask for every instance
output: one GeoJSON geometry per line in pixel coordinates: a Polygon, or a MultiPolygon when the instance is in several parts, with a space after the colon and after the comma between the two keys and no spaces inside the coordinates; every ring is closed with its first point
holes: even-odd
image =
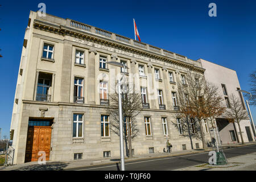
{"type": "MultiPolygon", "coordinates": [[[[42,117],[40,108],[46,108],[45,118],[54,118],[51,135],[51,161],[74,160],[74,154],[82,153],[82,159],[103,158],[104,151],[110,151],[110,155],[119,158],[119,137],[110,129],[110,137],[101,137],[101,114],[110,114],[106,107],[85,106],[73,104],[24,104],[22,117],[23,138],[26,138],[28,119],[31,117],[42,117]],[[73,114],[84,114],[84,137],[81,139],[73,138],[73,114]]],[[[174,113],[170,111],[142,111],[137,117],[139,133],[132,141],[134,155],[148,154],[149,148],[154,147],[154,152],[167,151],[167,139],[172,144],[172,151],[183,150],[182,145],[186,145],[187,150],[191,150],[191,143],[188,137],[179,135],[179,131],[172,124],[175,121],[174,113]],[[151,118],[152,136],[146,137],[144,127],[144,116],[151,118]],[[163,134],[162,117],[167,118],[168,137],[163,134]]],[[[111,116],[110,116],[111,122],[111,116]]],[[[112,126],[110,125],[110,128],[112,126]]],[[[201,140],[193,139],[193,147],[196,143],[202,148],[201,140]]],[[[26,140],[23,140],[23,146],[26,146],[26,140]]],[[[124,142],[126,154],[126,146],[124,142]]],[[[19,163],[24,163],[26,147],[17,148],[15,151],[19,156],[19,163]],[[21,155],[22,154],[22,155],[21,155]]]]}

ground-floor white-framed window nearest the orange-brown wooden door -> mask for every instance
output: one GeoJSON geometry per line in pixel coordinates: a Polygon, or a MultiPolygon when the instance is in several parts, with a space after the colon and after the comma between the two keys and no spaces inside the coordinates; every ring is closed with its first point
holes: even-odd
{"type": "Polygon", "coordinates": [[[73,137],[83,137],[84,114],[73,114],[73,137]]]}

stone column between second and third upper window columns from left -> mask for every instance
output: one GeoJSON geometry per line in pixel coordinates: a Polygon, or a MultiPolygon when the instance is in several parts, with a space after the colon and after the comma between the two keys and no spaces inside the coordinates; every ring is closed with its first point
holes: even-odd
{"type": "Polygon", "coordinates": [[[96,104],[96,75],[95,75],[95,55],[97,51],[89,49],[88,61],[88,104],[96,104]]]}

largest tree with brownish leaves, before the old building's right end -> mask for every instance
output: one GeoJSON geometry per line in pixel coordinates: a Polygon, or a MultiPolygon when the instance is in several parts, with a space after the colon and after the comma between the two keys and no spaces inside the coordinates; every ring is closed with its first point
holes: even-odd
{"type": "Polygon", "coordinates": [[[205,148],[205,134],[201,121],[207,118],[213,122],[214,118],[225,112],[225,106],[222,105],[222,98],[217,86],[206,81],[203,75],[190,71],[186,75],[185,84],[178,82],[178,98],[179,114],[183,118],[181,122],[184,123],[183,127],[186,126],[191,145],[193,137],[201,138],[203,148],[205,148]],[[194,127],[193,130],[191,126],[194,127]]]}

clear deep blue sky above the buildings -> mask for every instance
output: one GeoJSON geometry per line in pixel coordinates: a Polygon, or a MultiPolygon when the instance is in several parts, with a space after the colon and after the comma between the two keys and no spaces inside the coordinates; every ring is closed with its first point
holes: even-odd
{"type": "MultiPolygon", "coordinates": [[[[4,1],[0,5],[0,127],[9,136],[16,79],[30,10],[70,18],[134,39],[133,18],[144,43],[234,69],[249,90],[256,68],[256,1],[4,1]],[[217,17],[208,15],[216,3],[217,17]]],[[[256,123],[256,107],[250,107],[256,123]]]]}

